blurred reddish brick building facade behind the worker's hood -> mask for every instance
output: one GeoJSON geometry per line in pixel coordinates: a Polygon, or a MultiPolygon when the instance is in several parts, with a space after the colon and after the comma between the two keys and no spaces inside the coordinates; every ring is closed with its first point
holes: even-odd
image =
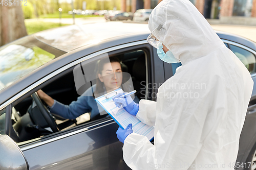
{"type": "MultiPolygon", "coordinates": [[[[162,0],[121,0],[121,10],[155,8],[162,0]]],[[[256,17],[256,0],[189,0],[205,18],[245,16],[256,17]]]]}

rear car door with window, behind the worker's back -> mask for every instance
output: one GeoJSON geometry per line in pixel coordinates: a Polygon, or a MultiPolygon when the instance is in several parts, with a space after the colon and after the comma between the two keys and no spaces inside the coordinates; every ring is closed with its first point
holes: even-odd
{"type": "MultiPolygon", "coordinates": [[[[225,45],[242,61],[251,74],[253,82],[256,81],[256,52],[242,44],[223,40],[225,45]]],[[[248,168],[249,164],[255,166],[255,150],[256,150],[256,90],[255,83],[248,110],[245,117],[244,126],[240,135],[239,152],[237,157],[237,169],[248,168]],[[253,160],[253,161],[252,161],[253,160]],[[247,164],[245,164],[247,162],[247,164]]],[[[250,166],[250,167],[251,167],[250,166]]],[[[250,168],[249,167],[249,168],[250,168]]],[[[254,167],[255,168],[255,167],[254,167]]],[[[254,169],[253,168],[253,169],[254,169]]]]}

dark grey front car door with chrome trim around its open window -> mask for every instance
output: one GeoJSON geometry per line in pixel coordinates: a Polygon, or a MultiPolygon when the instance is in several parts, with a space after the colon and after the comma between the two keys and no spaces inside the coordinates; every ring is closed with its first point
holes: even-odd
{"type": "MultiPolygon", "coordinates": [[[[100,56],[104,56],[106,53],[108,56],[120,57],[126,64],[133,82],[137,83],[134,87],[139,91],[139,98],[156,100],[157,87],[164,82],[164,68],[163,62],[152,55],[152,50],[153,47],[146,41],[140,41],[117,46],[111,50],[105,49],[97,54],[86,56],[80,61],[82,61],[81,64],[87,64],[87,62],[90,64],[91,60],[100,59],[100,56]],[[142,67],[141,62],[144,62],[144,71],[139,69],[142,67]],[[141,72],[144,72],[144,75],[141,72]]],[[[29,97],[46,84],[69,74],[75,66],[77,66],[77,62],[64,71],[63,69],[56,70],[53,72],[53,76],[40,86],[33,89],[28,88],[29,92],[25,95],[29,97]]],[[[23,96],[23,98],[25,97],[23,96]]],[[[12,108],[12,105],[15,107],[15,103],[18,102],[14,101],[13,103],[9,105],[9,108],[12,108]]],[[[7,111],[7,115],[9,115],[6,116],[6,119],[9,119],[9,125],[6,125],[9,127],[7,129],[12,129],[11,111],[7,111]]],[[[123,144],[116,137],[117,129],[118,125],[114,120],[106,116],[17,144],[23,151],[30,169],[130,169],[122,158],[123,144]]],[[[11,136],[10,133],[9,135],[11,136]]]]}

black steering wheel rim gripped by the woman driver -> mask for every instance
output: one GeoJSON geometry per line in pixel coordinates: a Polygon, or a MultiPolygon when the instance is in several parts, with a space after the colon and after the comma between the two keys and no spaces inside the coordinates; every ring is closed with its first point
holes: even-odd
{"type": "Polygon", "coordinates": [[[58,132],[59,129],[57,127],[57,124],[56,124],[54,118],[52,117],[51,113],[48,111],[47,107],[42,103],[37,92],[34,92],[31,96],[32,96],[32,99],[35,101],[35,104],[37,105],[40,113],[45,118],[47,124],[50,126],[52,131],[58,132]]]}

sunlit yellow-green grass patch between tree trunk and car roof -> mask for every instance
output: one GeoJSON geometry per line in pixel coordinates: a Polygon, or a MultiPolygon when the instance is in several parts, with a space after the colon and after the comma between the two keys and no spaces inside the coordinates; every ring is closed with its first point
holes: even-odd
{"type": "Polygon", "coordinates": [[[59,23],[42,22],[42,21],[35,21],[35,22],[25,21],[25,26],[28,34],[30,35],[39,31],[56,28],[60,26],[68,26],[68,25],[67,24],[59,25],[59,23]]]}

